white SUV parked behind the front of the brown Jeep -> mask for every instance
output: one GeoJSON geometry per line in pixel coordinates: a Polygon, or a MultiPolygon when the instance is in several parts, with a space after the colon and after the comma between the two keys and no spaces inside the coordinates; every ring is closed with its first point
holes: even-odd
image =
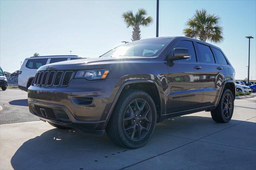
{"type": "Polygon", "coordinates": [[[26,58],[20,68],[19,78],[18,78],[18,88],[27,91],[28,87],[31,85],[32,80],[36,75],[36,70],[40,66],[46,64],[51,64],[55,62],[67,61],[67,60],[77,60],[83,57],[70,55],[70,56],[38,56],[26,58]]]}

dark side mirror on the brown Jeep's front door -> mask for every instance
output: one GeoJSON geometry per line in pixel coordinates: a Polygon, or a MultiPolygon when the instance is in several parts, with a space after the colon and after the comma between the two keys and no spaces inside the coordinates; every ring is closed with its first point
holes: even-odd
{"type": "Polygon", "coordinates": [[[168,61],[182,60],[190,58],[187,48],[174,48],[167,56],[168,61]]]}

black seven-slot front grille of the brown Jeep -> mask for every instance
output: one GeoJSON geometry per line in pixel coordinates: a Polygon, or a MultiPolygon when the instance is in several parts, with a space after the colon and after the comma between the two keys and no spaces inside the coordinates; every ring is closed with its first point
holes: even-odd
{"type": "Polygon", "coordinates": [[[40,71],[36,73],[34,86],[68,86],[73,71],[40,71]]]}

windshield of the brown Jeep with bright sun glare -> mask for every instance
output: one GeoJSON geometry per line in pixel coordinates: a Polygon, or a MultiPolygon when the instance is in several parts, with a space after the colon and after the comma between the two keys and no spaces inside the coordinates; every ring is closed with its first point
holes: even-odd
{"type": "Polygon", "coordinates": [[[137,40],[118,46],[100,57],[154,57],[157,56],[172,40],[173,38],[137,40]]]}

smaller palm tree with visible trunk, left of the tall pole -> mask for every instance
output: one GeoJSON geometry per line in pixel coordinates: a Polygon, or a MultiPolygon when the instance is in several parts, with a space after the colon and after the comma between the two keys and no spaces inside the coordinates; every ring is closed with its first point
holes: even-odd
{"type": "Polygon", "coordinates": [[[153,23],[153,18],[148,16],[146,18],[147,12],[143,8],[140,8],[138,12],[134,15],[132,11],[127,11],[122,14],[122,18],[126,23],[127,28],[130,26],[132,29],[132,41],[140,40],[140,26],[150,26],[153,23]]]}

